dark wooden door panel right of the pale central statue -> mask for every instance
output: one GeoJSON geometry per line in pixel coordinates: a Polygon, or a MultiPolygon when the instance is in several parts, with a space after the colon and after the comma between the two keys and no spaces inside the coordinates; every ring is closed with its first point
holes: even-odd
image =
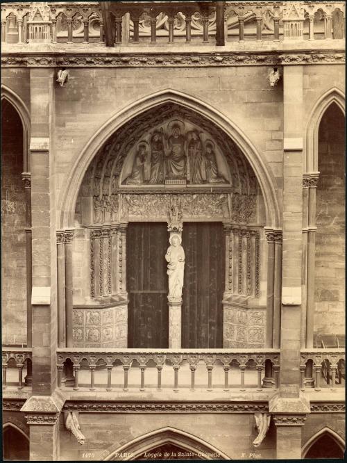
{"type": "Polygon", "coordinates": [[[185,222],[182,347],[223,347],[225,241],[220,222],[185,222]]]}

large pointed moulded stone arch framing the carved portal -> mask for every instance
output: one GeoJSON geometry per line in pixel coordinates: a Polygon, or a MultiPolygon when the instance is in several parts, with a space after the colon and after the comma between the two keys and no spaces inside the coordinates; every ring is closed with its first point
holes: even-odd
{"type": "Polygon", "coordinates": [[[112,136],[112,133],[115,133],[115,131],[126,124],[126,122],[141,115],[144,111],[170,102],[181,105],[183,108],[189,108],[198,113],[198,115],[204,116],[205,119],[213,122],[219,129],[226,133],[226,136],[230,137],[233,142],[235,142],[250,163],[257,177],[257,181],[260,184],[266,209],[266,227],[275,229],[280,227],[280,210],[278,207],[275,187],[276,182],[273,173],[251,141],[228,117],[209,104],[190,95],[186,95],[183,92],[170,89],[155,92],[152,95],[148,95],[128,105],[111,117],[110,120],[105,122],[105,124],[100,127],[99,131],[88,141],[87,145],[85,145],[81,154],[78,156],[74,167],[71,169],[69,178],[62,187],[62,199],[59,204],[60,227],[62,229],[74,227],[74,212],[78,191],[81,187],[85,172],[100,147],[106,143],[108,138],[112,136]]]}

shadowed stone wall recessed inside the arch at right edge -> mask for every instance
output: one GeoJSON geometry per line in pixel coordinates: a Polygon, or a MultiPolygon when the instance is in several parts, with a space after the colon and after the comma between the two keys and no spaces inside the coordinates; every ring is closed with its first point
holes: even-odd
{"type": "Polygon", "coordinates": [[[314,329],[344,334],[344,115],[336,104],[325,111],[319,127],[318,168],[314,329]]]}

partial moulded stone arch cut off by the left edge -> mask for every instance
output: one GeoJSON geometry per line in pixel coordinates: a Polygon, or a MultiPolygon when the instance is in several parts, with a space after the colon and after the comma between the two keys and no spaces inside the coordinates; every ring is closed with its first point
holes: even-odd
{"type": "Polygon", "coordinates": [[[23,125],[23,171],[30,172],[29,145],[31,136],[30,114],[26,104],[13,90],[1,84],[1,105],[3,100],[10,101],[15,107],[23,125]]]}

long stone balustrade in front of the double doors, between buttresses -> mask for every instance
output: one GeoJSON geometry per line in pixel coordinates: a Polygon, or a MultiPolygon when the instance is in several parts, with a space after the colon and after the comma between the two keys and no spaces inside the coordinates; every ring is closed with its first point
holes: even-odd
{"type": "Polygon", "coordinates": [[[63,389],[262,391],[279,387],[280,350],[276,349],[115,352],[61,348],[57,357],[58,387],[63,389]]]}

